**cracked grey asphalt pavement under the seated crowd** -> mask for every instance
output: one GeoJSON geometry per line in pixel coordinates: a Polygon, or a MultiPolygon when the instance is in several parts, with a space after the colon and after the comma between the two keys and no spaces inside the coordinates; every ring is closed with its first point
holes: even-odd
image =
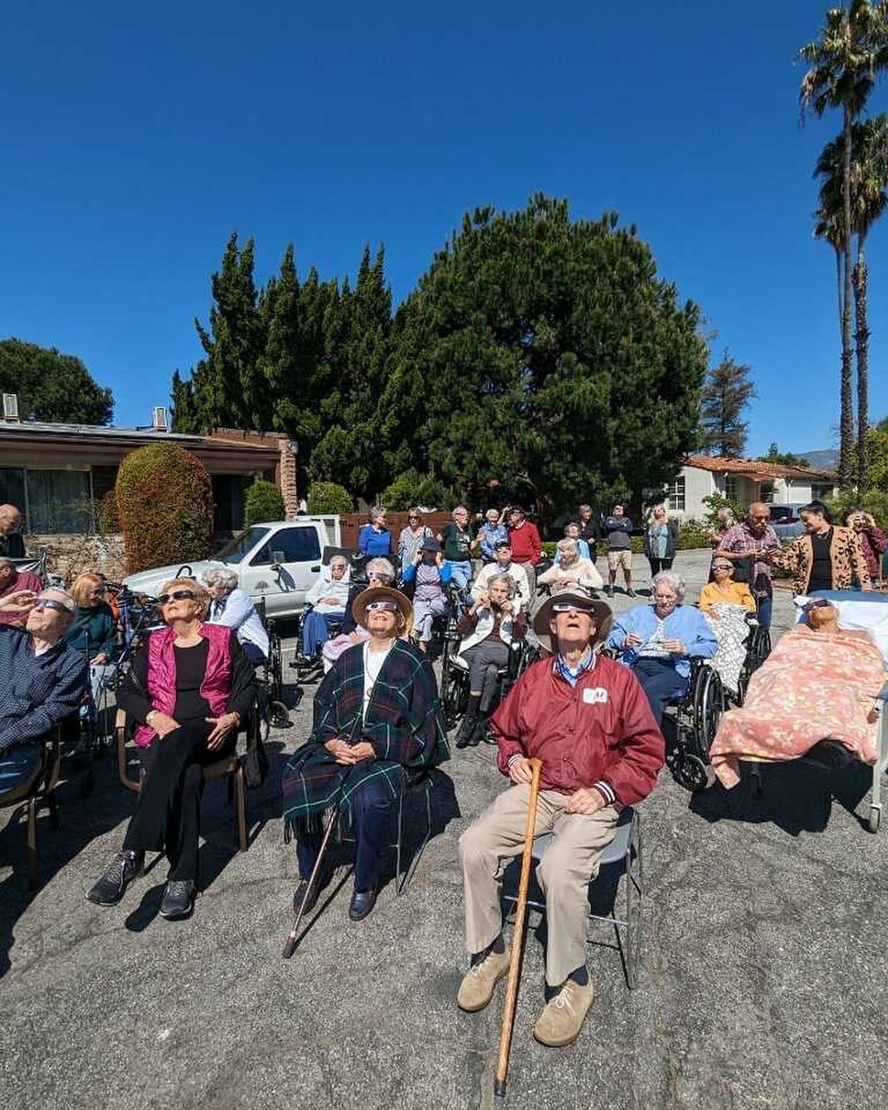
{"type": "MultiPolygon", "coordinates": [[[[689,599],[705,563],[702,553],[679,554],[689,599]]],[[[640,573],[638,585],[647,585],[640,573]]],[[[626,605],[617,596],[615,607],[626,605]]],[[[781,592],[777,628],[789,617],[781,592]]],[[[274,771],[249,795],[248,852],[233,850],[224,786],[208,785],[203,892],[185,922],[158,916],[162,862],[119,907],[83,897],[133,807],[110,758],[92,797],[80,797],[75,779],[62,787],[59,831],[41,818],[33,894],[24,827],[2,813],[0,1107],[494,1104],[503,986],[480,1015],[454,1002],[466,966],[456,840],[504,785],[493,750],[454,751],[444,765],[435,835],[405,894],[390,884],[365,922],[350,922],[344,856],[284,961],[294,852],[283,842],[280,773],[310,712],[311,690],[273,737],[274,771]]],[[[859,795],[866,775],[834,786],[859,795]]],[[[885,833],[866,833],[837,800],[827,808],[818,781],[798,767],[774,769],[760,800],[747,781],[730,796],[714,787],[692,798],[664,771],[640,807],[639,987],[626,989],[613,947],[591,944],[596,997],[579,1040],[561,1050],[537,1045],[543,965],[532,916],[505,1104],[884,1104],[885,833]]],[[[858,814],[867,811],[864,801],[858,814]]],[[[408,810],[414,842],[423,820],[421,807],[408,810]]],[[[613,944],[603,926],[591,938],[613,944]]]]}

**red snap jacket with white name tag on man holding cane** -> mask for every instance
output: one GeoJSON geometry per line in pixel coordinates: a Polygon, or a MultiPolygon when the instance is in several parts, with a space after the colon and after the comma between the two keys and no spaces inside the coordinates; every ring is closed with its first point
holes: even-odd
{"type": "Polygon", "coordinates": [[[663,733],[642,684],[620,663],[596,656],[576,686],[554,659],[534,663],[491,718],[500,770],[514,755],[543,760],[541,786],[563,794],[596,787],[608,801],[634,805],[654,789],[663,767],[663,733]]]}

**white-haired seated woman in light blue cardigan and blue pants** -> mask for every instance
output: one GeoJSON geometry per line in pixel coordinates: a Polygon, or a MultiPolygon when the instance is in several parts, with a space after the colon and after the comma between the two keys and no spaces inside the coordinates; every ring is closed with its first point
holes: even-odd
{"type": "Polygon", "coordinates": [[[692,656],[710,659],[718,640],[699,609],[683,604],[680,575],[660,571],[652,588],[654,604],[636,605],[618,617],[607,646],[622,652],[620,662],[635,672],[659,725],[666,703],[687,690],[692,656]]]}

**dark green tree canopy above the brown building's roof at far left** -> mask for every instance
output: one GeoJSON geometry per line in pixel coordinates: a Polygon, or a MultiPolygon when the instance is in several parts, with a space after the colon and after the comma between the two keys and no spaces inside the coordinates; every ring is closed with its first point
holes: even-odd
{"type": "Polygon", "coordinates": [[[21,340],[0,340],[0,392],[16,393],[21,420],[110,424],[114,401],[80,361],[21,340]]]}

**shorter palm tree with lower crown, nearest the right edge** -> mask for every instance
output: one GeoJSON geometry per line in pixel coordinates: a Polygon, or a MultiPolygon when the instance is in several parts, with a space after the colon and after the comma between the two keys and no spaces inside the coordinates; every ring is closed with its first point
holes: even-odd
{"type": "MultiPolygon", "coordinates": [[[[844,236],[844,140],[827,143],[817,160],[815,176],[820,182],[820,205],[815,212],[814,233],[836,252],[839,284],[845,256],[844,236]]],[[[888,206],[888,113],[851,128],[851,234],[856,236],[851,283],[857,343],[857,484],[867,486],[867,432],[869,430],[869,323],[867,319],[866,240],[872,224],[888,206]]],[[[839,294],[841,312],[841,294],[839,294]]]]}

